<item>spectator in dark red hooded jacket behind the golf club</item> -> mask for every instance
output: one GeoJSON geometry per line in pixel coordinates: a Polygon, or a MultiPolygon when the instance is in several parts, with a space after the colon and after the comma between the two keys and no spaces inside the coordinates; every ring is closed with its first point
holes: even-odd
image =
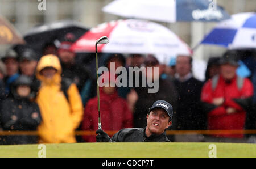
{"type": "MultiPolygon", "coordinates": [[[[110,73],[104,73],[102,76],[104,76],[104,81],[106,78],[109,78],[109,82],[115,83],[115,78],[112,78],[110,73]]],[[[128,108],[126,100],[118,96],[117,87],[110,87],[108,85],[99,89],[102,128],[104,130],[132,128],[133,114],[128,108]]],[[[82,129],[98,129],[97,97],[90,99],[85,107],[82,129]]],[[[83,138],[86,142],[96,142],[94,136],[83,136],[83,138]]]]}

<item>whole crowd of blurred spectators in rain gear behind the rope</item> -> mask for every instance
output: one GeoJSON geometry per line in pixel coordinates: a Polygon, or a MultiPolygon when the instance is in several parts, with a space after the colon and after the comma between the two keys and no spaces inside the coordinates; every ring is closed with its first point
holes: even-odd
{"type": "MultiPolygon", "coordinates": [[[[37,130],[38,136],[0,136],[1,145],[96,141],[95,136],[75,136],[76,130],[97,130],[98,110],[96,71],[90,66],[93,59],[90,64],[77,60],[76,53],[70,50],[72,43],[73,36],[68,33],[58,47],[51,46],[53,43],[47,46],[43,56],[26,45],[2,54],[0,130],[37,130]]],[[[170,130],[255,129],[256,73],[255,66],[249,65],[255,63],[254,57],[252,53],[247,57],[228,51],[222,57],[210,58],[205,81],[201,82],[193,77],[191,56],[177,56],[175,62],[163,65],[152,55],[102,54],[101,65],[109,70],[111,63],[115,64],[114,71],[119,66],[146,70],[152,67],[151,73],[139,72],[139,75],[159,84],[156,93],[148,92],[152,86],[147,83],[146,87],[100,87],[102,129],[144,128],[148,113],[145,110],[155,100],[172,104],[174,117],[170,130]],[[238,60],[248,65],[250,77],[237,75],[238,60]]],[[[108,77],[110,84],[116,82],[118,74],[109,71],[102,76],[108,77]]],[[[227,132],[168,137],[171,141],[185,142],[242,142],[248,138],[245,134],[227,132]]]]}

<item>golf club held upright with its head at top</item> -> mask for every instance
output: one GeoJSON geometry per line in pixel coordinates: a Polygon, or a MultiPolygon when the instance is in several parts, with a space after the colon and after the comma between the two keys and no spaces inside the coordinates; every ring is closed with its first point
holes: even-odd
{"type": "Polygon", "coordinates": [[[107,44],[109,43],[109,39],[106,36],[102,36],[100,37],[100,39],[98,39],[96,41],[95,44],[95,54],[96,54],[96,84],[97,84],[97,100],[98,100],[98,129],[101,129],[101,113],[100,113],[100,91],[98,88],[98,50],[97,50],[97,45],[98,44],[107,44]]]}

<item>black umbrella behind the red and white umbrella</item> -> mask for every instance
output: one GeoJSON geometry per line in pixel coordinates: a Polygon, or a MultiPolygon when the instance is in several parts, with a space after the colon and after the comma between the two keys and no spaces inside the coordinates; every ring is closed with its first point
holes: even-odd
{"type": "Polygon", "coordinates": [[[61,20],[49,24],[36,26],[24,35],[24,40],[35,51],[42,53],[47,43],[53,43],[56,39],[62,39],[67,33],[73,33],[78,39],[88,28],[73,20],[61,20]]]}

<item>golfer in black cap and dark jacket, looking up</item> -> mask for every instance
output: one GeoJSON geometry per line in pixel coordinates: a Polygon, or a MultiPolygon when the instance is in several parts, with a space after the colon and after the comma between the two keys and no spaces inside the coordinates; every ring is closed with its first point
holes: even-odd
{"type": "Polygon", "coordinates": [[[106,132],[96,131],[97,142],[170,142],[166,129],[172,124],[172,105],[164,100],[156,101],[147,114],[146,128],[127,128],[115,133],[112,138],[106,132]]]}

